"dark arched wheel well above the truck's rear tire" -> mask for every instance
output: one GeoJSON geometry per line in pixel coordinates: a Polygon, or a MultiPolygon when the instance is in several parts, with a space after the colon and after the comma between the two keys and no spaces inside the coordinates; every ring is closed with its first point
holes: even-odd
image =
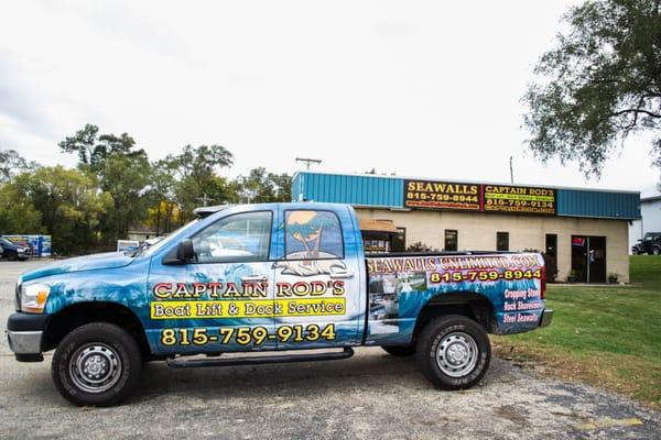
{"type": "Polygon", "coordinates": [[[442,294],[432,297],[420,310],[413,330],[413,339],[427,322],[444,315],[460,315],[470,318],[488,333],[492,332],[496,323],[494,305],[485,296],[472,292],[442,294]]]}

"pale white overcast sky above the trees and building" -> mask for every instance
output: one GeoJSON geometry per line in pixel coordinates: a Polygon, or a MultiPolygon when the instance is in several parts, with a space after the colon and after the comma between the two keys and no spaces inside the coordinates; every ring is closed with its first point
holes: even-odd
{"type": "Polygon", "coordinates": [[[0,145],[44,163],[85,123],[153,158],[218,143],[230,174],[397,172],[651,188],[644,140],[600,182],[525,154],[519,102],[572,2],[4,2],[0,145]],[[39,157],[34,157],[39,154],[39,157]]]}

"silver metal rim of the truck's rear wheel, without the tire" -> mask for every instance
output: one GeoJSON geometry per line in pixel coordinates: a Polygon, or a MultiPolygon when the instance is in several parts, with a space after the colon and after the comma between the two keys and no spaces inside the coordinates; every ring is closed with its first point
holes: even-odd
{"type": "Polygon", "coordinates": [[[462,377],[470,373],[477,364],[477,342],[468,333],[446,334],[436,348],[436,364],[451,377],[462,377]]]}

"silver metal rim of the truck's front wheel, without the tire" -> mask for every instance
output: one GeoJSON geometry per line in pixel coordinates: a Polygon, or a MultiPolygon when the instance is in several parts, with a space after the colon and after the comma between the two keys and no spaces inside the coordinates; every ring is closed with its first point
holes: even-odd
{"type": "Polygon", "coordinates": [[[74,384],[87,393],[104,393],[117,384],[122,364],[119,354],[104,343],[80,346],[69,361],[74,384]]]}

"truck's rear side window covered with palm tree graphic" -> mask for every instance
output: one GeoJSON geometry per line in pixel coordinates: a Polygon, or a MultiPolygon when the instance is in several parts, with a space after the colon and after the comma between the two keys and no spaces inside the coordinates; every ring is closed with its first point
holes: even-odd
{"type": "Polygon", "coordinates": [[[292,210],[284,215],[285,260],[344,258],[344,241],[335,212],[292,210]]]}

